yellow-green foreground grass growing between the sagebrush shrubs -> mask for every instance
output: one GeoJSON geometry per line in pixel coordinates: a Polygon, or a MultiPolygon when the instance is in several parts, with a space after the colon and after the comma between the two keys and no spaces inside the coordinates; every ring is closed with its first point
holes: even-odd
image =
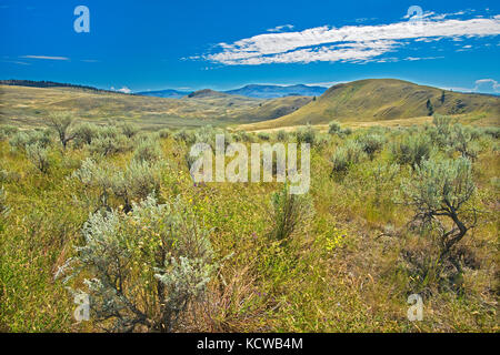
{"type": "MultiPolygon", "coordinates": [[[[71,142],[63,151],[51,134],[50,142],[46,142],[48,169],[40,171],[30,149],[12,140],[17,133],[6,133],[0,141],[4,191],[0,220],[0,331],[100,332],[101,326],[109,325],[109,321],[100,323],[93,317],[82,323],[72,318],[76,305],[66,287],[86,290],[83,278],[94,276],[94,270],[88,268],[67,283],[63,277],[54,277],[68,258],[79,255],[76,247],[86,244],[82,229],[90,215],[112,209],[126,219],[120,212],[123,201],[119,195],[110,195],[103,206],[99,184],[86,185],[86,180],[76,179],[74,172],[89,158],[101,172],[110,166],[124,171],[139,156],[140,142],[149,139],[159,146],[160,162],[167,163],[159,165],[154,178],[158,201],[170,203],[179,196],[210,231],[209,241],[219,264],[203,296],[190,303],[173,331],[499,332],[498,128],[467,128],[468,149],[476,154],[472,173],[477,186],[467,206],[474,206],[480,214],[477,226],[457,246],[462,265],[460,277],[430,273],[432,265],[422,261],[436,253],[433,232],[411,229],[414,210],[397,199],[403,182],[413,181],[416,173],[410,165],[393,165],[397,156],[392,144],[411,136],[436,139],[432,124],[359,128],[351,134],[311,132],[307,135],[312,144],[311,189],[304,196],[311,203],[309,213],[282,240],[274,237],[279,225],[272,201],[283,185],[193,184],[186,154],[194,135],[160,138],[139,132],[130,138],[127,149],[103,156],[94,143],[71,142]],[[356,162],[336,171],[332,156],[340,149],[372,135],[380,139],[381,145],[370,158],[360,152],[356,162]],[[407,298],[413,293],[423,297],[421,322],[407,318],[407,298]]],[[[253,134],[232,136],[246,144],[259,141],[253,134]]],[[[266,138],[266,142],[268,139],[274,142],[278,135],[266,138]]],[[[288,142],[297,140],[299,134],[286,138],[288,142]]],[[[429,159],[459,159],[452,144],[429,143],[429,159]]],[[[144,170],[143,175],[147,174],[144,170]]],[[[112,182],[111,175],[108,178],[112,182]]],[[[129,179],[133,182],[137,178],[129,179]]],[[[151,229],[148,224],[127,227],[142,233],[137,235],[159,233],[156,226],[151,234],[144,234],[151,229]]],[[[142,252],[131,257],[142,257],[142,252]]],[[[139,285],[141,296],[133,301],[141,310],[150,305],[148,295],[157,292],[148,286],[154,280],[149,278],[151,274],[141,278],[148,273],[146,266],[127,266],[132,278],[120,288],[136,290],[139,285]]],[[[143,326],[134,331],[153,329],[143,326]]]]}

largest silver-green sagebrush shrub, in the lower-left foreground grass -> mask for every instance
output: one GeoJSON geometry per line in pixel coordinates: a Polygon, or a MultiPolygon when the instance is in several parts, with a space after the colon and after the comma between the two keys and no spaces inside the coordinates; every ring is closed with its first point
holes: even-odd
{"type": "Polygon", "coordinates": [[[98,212],[82,233],[67,266],[86,277],[90,316],[108,331],[174,331],[217,267],[210,231],[179,197],[158,204],[148,196],[130,213],[98,212]]]}

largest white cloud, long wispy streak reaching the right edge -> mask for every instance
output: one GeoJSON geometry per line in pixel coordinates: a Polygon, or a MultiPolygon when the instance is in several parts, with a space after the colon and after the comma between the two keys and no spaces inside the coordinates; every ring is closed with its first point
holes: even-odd
{"type": "Polygon", "coordinates": [[[500,34],[500,16],[450,19],[463,13],[466,12],[426,12],[419,24],[400,21],[379,26],[323,26],[303,31],[262,33],[230,44],[219,43],[216,53],[202,58],[226,65],[367,62],[396,52],[412,41],[430,42],[446,38],[464,40],[500,34]]]}

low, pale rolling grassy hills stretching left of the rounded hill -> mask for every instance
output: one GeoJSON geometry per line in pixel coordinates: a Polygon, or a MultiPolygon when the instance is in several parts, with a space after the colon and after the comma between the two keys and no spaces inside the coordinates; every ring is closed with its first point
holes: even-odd
{"type": "Polygon", "coordinates": [[[126,95],[79,88],[0,85],[0,123],[33,126],[53,111],[70,111],[84,121],[134,120],[147,128],[227,125],[271,120],[308,100],[261,100],[217,92],[178,99],[126,95]]]}

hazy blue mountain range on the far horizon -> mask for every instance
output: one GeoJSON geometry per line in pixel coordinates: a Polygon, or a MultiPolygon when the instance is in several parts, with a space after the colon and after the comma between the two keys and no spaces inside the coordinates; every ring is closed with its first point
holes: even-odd
{"type": "Polygon", "coordinates": [[[210,89],[203,89],[196,92],[186,92],[178,91],[173,89],[166,90],[157,90],[157,91],[141,91],[137,92],[139,95],[146,97],[157,97],[157,98],[170,98],[170,99],[180,99],[186,95],[193,97],[208,97],[208,95],[218,95],[218,94],[230,94],[230,95],[240,95],[256,99],[277,99],[284,97],[319,97],[323,94],[328,88],[323,87],[309,87],[303,84],[298,85],[260,85],[260,84],[250,84],[240,89],[227,90],[227,91],[214,91],[210,89]]]}

